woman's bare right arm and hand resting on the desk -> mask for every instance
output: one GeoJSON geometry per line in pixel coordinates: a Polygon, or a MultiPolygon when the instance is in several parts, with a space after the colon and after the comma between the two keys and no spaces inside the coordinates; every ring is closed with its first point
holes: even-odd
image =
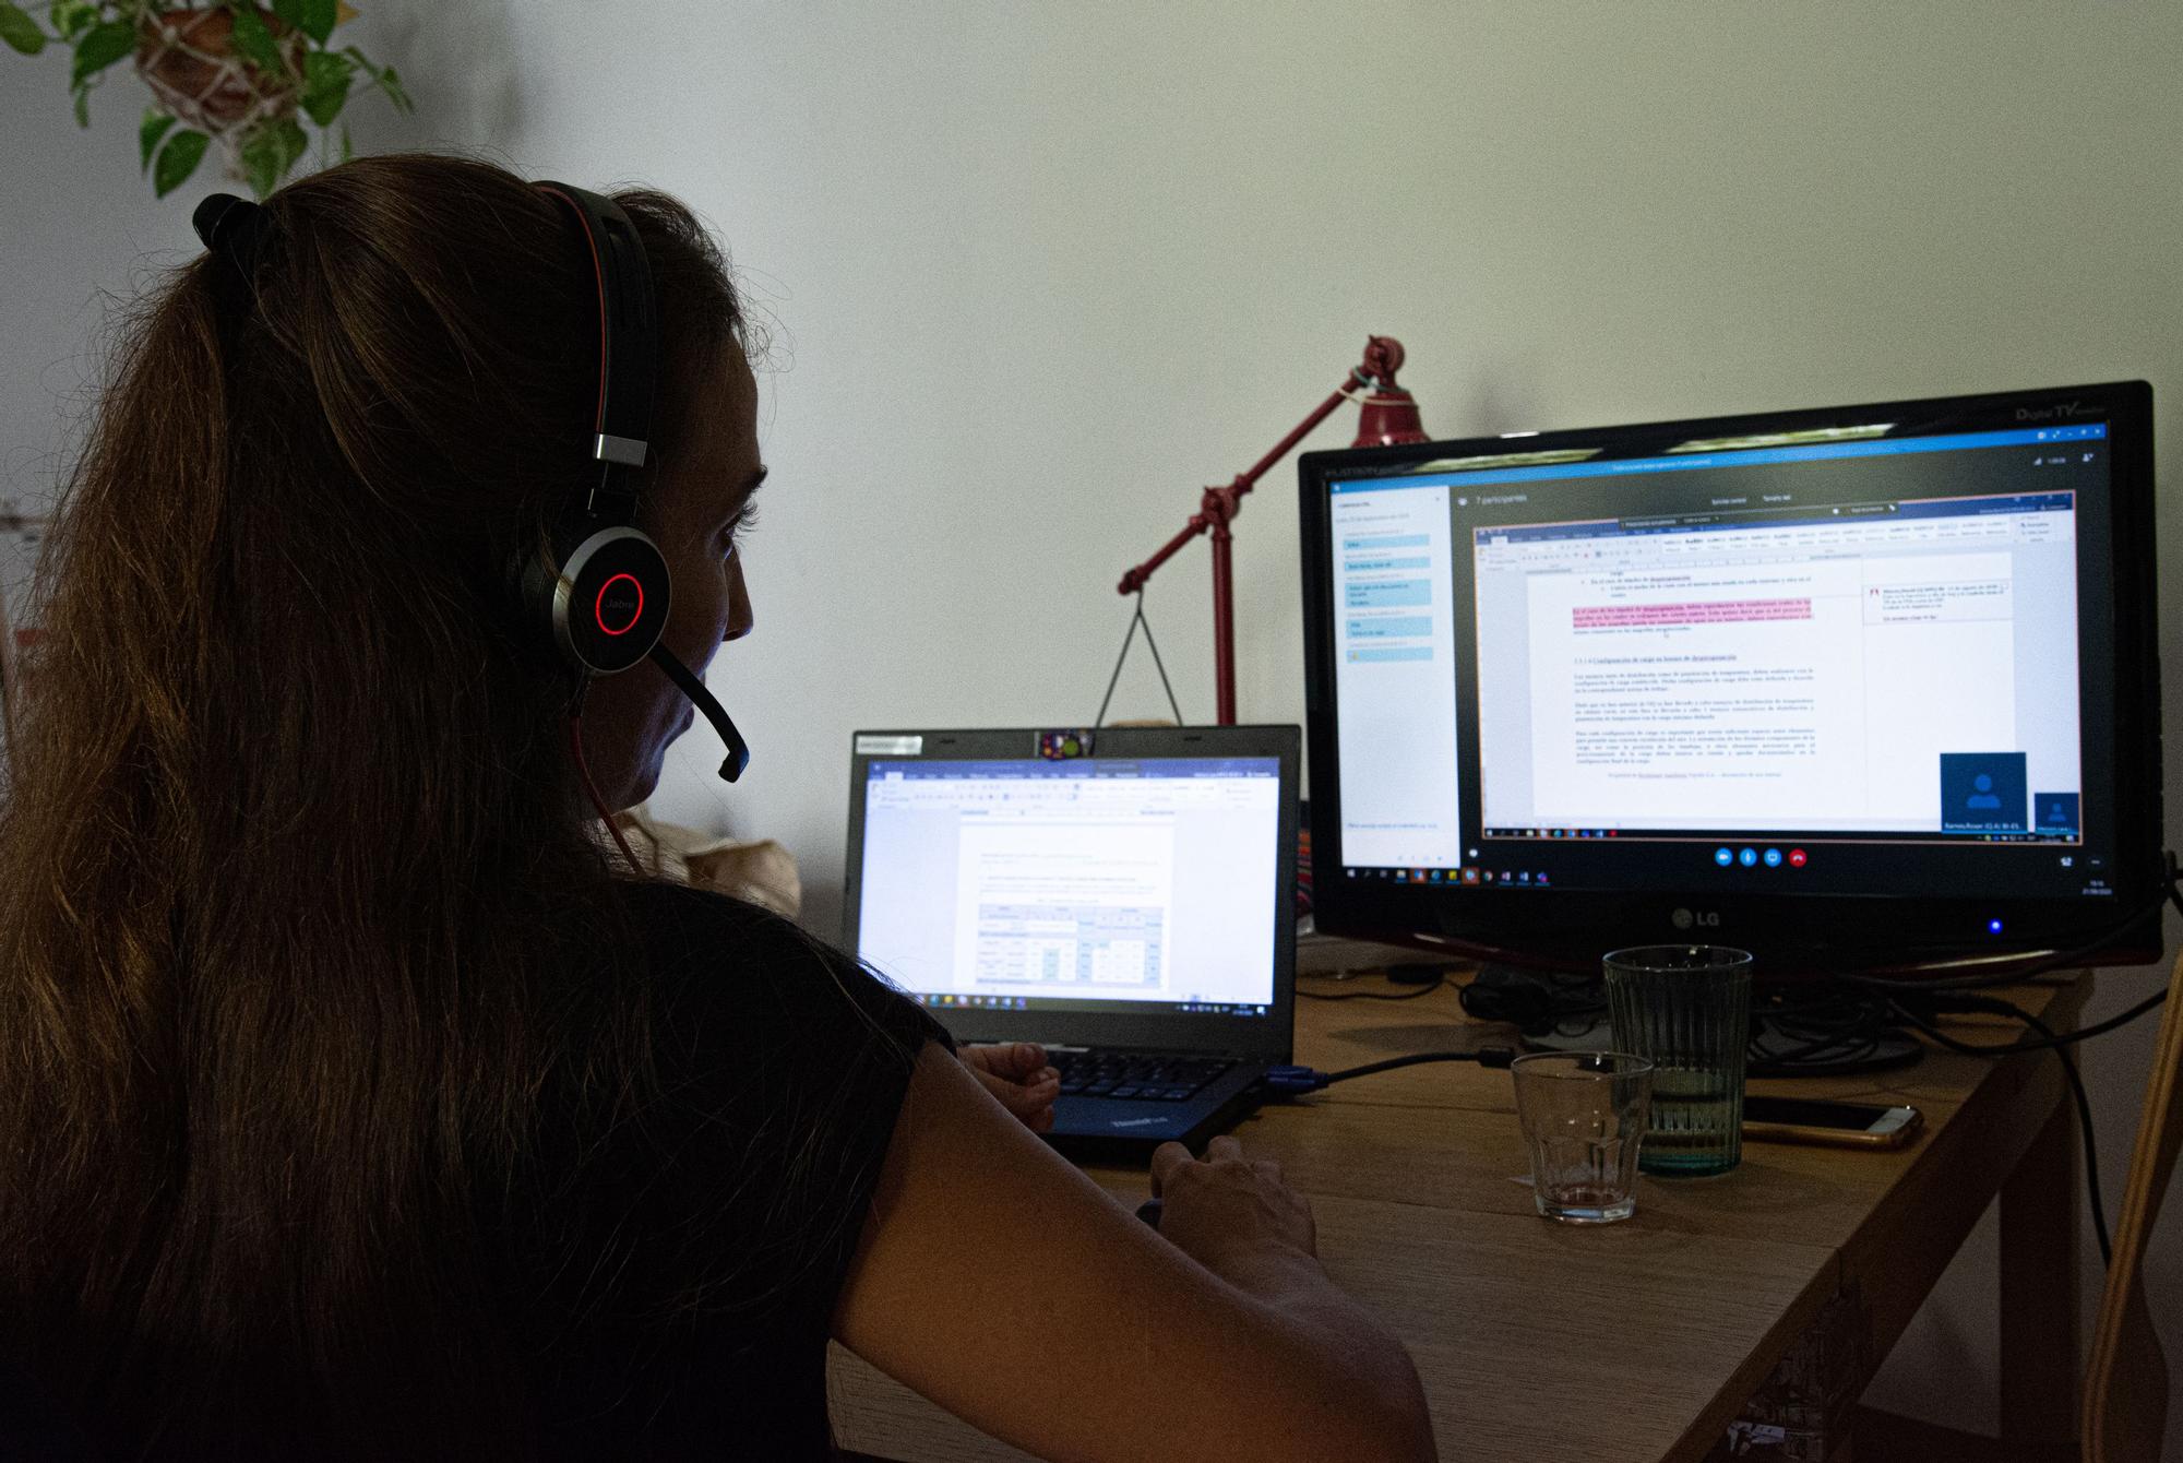
{"type": "Polygon", "coordinates": [[[1432,1459],[1401,1343],[1319,1269],[1273,1166],[1216,1144],[1161,1153],[1170,1242],[928,1044],[834,1336],[1043,1459],[1432,1459]]]}

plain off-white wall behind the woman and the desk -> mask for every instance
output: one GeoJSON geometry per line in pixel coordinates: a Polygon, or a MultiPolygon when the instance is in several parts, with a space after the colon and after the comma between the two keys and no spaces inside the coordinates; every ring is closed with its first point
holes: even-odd
{"type": "MultiPolygon", "coordinates": [[[[821,928],[849,732],[1087,721],[1129,620],[1120,572],[1369,332],[1410,349],[1443,437],[2144,376],[2170,474],[2183,441],[2174,7],[365,9],[356,41],[419,116],[360,98],[360,144],[664,186],[779,321],[760,633],[712,677],[751,777],[709,782],[692,736],[657,806],[784,838],[821,928]]],[[[210,183],[155,205],[129,175],[127,79],[79,133],[59,59],[0,76],[0,493],[35,496],[70,441],[92,293],[146,251],[181,258],[210,183]]],[[[1343,408],[1312,441],[1351,428],[1343,408]]],[[[2174,502],[2161,548],[2183,563],[2174,502]]],[[[1148,596],[1192,716],[1212,714],[1205,598],[1201,546],[1148,596]]],[[[1244,716],[1301,718],[1286,465],[1238,524],[1238,603],[1244,716]]],[[[2183,686],[2183,635],[2163,664],[2183,686]]],[[[1118,714],[1161,710],[1140,651],[1118,714]]],[[[2183,756],[2170,808],[2179,786],[2183,756]]],[[[2155,978],[2111,976],[2096,1009],[2155,978]]],[[[2111,1203],[2150,1035],[2087,1052],[2111,1203]]],[[[2085,1280],[2089,1310],[2096,1258],[2085,1280]]],[[[2152,1284],[2155,1312],[2183,1301],[2183,1221],[2152,1284]]],[[[1991,1290],[1982,1234],[1875,1400],[1991,1424],[1991,1290]]],[[[2183,1456],[2183,1419],[2172,1437],[2183,1456]]]]}

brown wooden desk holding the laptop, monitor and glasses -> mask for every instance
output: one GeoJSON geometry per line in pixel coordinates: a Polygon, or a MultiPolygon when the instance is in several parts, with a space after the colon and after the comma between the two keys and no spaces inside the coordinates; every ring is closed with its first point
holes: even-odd
{"type": "MultiPolygon", "coordinates": [[[[2008,996],[2067,1031],[2087,989],[2008,996]]],[[[1506,1042],[1506,1028],[1469,1022],[1452,987],[1297,1007],[1297,1059],[1319,1070],[1506,1042]]],[[[1960,1031],[2015,1035],[1987,1020],[1960,1031]]],[[[1334,1280],[1410,1347],[1447,1459],[1703,1459],[1834,1297],[1860,1297],[1877,1365],[1995,1194],[2004,1441],[2021,1459],[2074,1456],[2083,1194],[2061,1066],[1930,1050],[1901,1072],[1753,1090],[1910,1103],[1925,1131],[1895,1153],[1746,1142],[1727,1175],[1642,1177],[1637,1216],[1598,1229],[1532,1208],[1506,1072],[1404,1068],[1236,1131],[1310,1197],[1334,1280]]],[[[1146,1194],[1142,1168],[1089,1173],[1131,1205],[1146,1194]]],[[[906,1463],[1026,1456],[840,1347],[830,1371],[847,1448],[906,1463]]]]}

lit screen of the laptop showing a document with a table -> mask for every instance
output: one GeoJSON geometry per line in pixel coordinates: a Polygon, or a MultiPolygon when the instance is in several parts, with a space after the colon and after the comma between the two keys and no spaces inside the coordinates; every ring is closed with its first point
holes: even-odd
{"type": "Polygon", "coordinates": [[[1279,758],[873,760],[856,954],[928,1007],[1266,1015],[1279,758]]]}

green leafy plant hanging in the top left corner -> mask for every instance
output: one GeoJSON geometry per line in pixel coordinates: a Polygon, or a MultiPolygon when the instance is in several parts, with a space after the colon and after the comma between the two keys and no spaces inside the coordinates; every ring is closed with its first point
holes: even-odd
{"type": "MultiPolygon", "coordinates": [[[[131,59],[153,94],[138,129],[138,162],[153,192],[164,199],[181,188],[218,142],[227,177],[262,199],[310,151],[297,111],[319,127],[325,164],[334,162],[332,129],[358,79],[384,92],[395,109],[410,109],[395,68],[375,66],[356,46],[334,48],[334,26],[354,17],[345,0],[52,0],[39,24],[0,0],[0,41],[26,57],[46,46],[70,48],[76,127],[92,124],[92,87],[107,68],[131,59]]],[[[347,155],[343,124],[338,157],[347,155]]]]}

